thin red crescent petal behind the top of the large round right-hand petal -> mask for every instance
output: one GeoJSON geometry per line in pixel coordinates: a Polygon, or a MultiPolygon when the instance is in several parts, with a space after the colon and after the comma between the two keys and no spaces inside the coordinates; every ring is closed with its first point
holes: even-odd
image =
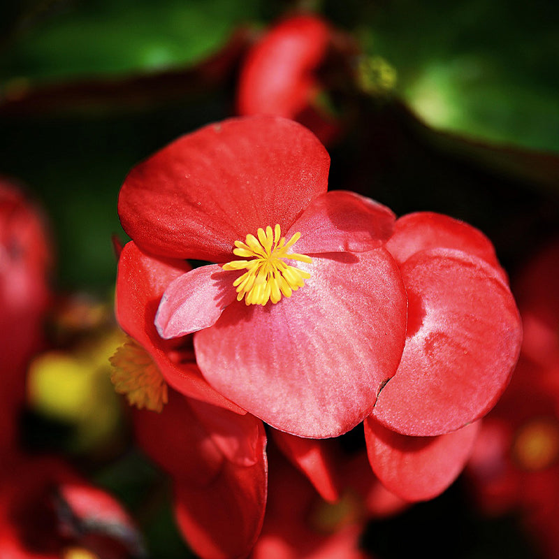
{"type": "Polygon", "coordinates": [[[421,250],[435,248],[461,250],[470,256],[485,260],[499,271],[503,279],[507,279],[491,240],[479,229],[448,215],[416,212],[400,217],[396,220],[394,234],[386,243],[386,248],[399,264],[421,250]]]}

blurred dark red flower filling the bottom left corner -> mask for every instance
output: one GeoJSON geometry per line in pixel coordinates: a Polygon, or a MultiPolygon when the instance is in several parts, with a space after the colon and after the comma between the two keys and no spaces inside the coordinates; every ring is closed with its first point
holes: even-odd
{"type": "Polygon", "coordinates": [[[11,456],[0,481],[0,556],[106,559],[145,556],[129,514],[56,458],[11,456]]]}

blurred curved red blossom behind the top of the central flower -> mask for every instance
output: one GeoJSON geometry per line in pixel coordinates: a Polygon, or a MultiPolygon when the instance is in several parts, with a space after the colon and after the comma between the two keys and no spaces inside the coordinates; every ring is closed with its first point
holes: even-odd
{"type": "Polygon", "coordinates": [[[333,117],[320,110],[317,71],[332,30],[317,15],[296,15],[263,34],[242,64],[237,92],[239,115],[276,115],[298,120],[323,141],[335,135],[333,117]]]}

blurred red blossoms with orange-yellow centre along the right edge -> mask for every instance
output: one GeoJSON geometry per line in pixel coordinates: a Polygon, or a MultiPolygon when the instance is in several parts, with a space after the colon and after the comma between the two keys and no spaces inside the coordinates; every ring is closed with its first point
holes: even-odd
{"type": "Polygon", "coordinates": [[[559,243],[514,282],[523,320],[511,384],[484,419],[467,468],[488,514],[519,512],[545,557],[559,555],[559,243]]]}

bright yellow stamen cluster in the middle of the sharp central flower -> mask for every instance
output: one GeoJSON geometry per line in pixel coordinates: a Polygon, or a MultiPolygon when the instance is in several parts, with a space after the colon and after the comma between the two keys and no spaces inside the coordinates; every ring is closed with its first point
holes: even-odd
{"type": "Polygon", "coordinates": [[[247,270],[233,282],[237,288],[237,300],[245,298],[247,305],[266,305],[269,300],[277,303],[282,295],[291,297],[305,285],[310,273],[290,266],[285,260],[298,260],[310,263],[310,256],[288,252],[299,240],[301,234],[295,233],[286,241],[279,225],[266,231],[259,228],[254,235],[247,235],[245,242],[235,240],[233,254],[251,260],[233,260],[224,264],[224,270],[247,270]]]}

